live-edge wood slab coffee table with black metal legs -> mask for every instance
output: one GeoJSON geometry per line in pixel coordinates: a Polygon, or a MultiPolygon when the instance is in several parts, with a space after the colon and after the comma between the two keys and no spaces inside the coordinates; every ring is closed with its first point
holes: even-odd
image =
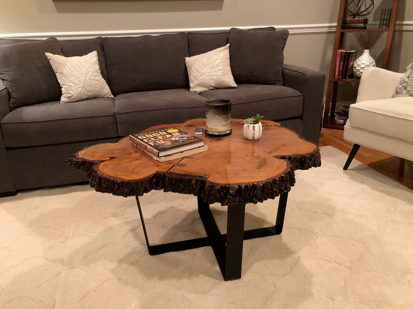
{"type": "MultiPolygon", "coordinates": [[[[150,255],[211,246],[225,280],[241,278],[244,239],[282,232],[287,195],[295,183],[294,171],[321,165],[318,147],[280,124],[263,121],[259,140],[247,140],[243,120],[232,119],[232,135],[204,138],[209,149],[187,157],[159,162],[122,138],[84,148],[68,162],[88,173],[90,186],[98,192],[135,196],[150,255]],[[207,237],[151,246],[138,196],[151,190],[192,194],[207,237]],[[244,231],[245,204],[280,196],[275,225],[244,231]],[[221,234],[209,204],[228,206],[227,234],[221,234]]],[[[188,133],[205,129],[205,119],[176,126],[188,133]]]]}

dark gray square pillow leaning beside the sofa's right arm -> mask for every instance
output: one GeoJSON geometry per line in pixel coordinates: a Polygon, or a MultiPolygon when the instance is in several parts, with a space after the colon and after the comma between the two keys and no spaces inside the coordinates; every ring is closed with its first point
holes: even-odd
{"type": "Polygon", "coordinates": [[[288,30],[230,29],[230,65],[235,82],[282,85],[282,64],[288,30]]]}

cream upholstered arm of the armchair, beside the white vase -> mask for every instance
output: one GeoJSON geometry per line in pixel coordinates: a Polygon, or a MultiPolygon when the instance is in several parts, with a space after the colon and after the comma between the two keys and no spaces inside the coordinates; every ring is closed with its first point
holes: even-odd
{"type": "Polygon", "coordinates": [[[361,75],[356,103],[391,98],[403,75],[381,68],[367,68],[361,75]]]}

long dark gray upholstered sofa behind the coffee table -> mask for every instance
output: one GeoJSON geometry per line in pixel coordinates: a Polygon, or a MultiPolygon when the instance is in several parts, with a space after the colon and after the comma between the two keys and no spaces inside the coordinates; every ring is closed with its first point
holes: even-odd
{"type": "MultiPolygon", "coordinates": [[[[39,78],[44,78],[40,85],[44,89],[35,93],[28,81],[22,85],[27,87],[27,104],[16,106],[11,104],[14,101],[6,80],[5,84],[0,81],[0,196],[84,182],[85,174],[66,163],[72,154],[97,143],[116,142],[149,126],[204,117],[204,102],[209,98],[230,98],[233,118],[244,119],[259,112],[264,119],[278,121],[307,140],[318,142],[325,80],[322,73],[283,64],[282,86],[235,79],[237,88],[201,94],[189,91],[185,57],[224,46],[228,31],[47,40],[58,44],[63,56],[83,56],[96,50],[102,77],[115,98],[60,104],[59,96],[47,97],[56,81],[47,81],[42,71],[39,78]],[[38,95],[45,95],[48,101],[30,101],[38,95]]],[[[33,44],[0,39],[0,52],[16,54],[13,48],[27,49],[27,54],[17,59],[21,62],[35,54],[31,52],[33,44]]]]}

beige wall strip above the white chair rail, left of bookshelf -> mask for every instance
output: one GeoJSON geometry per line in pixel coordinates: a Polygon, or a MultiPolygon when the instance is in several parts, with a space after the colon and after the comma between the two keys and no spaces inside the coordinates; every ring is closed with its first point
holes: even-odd
{"type": "Polygon", "coordinates": [[[331,23],[337,8],[332,0],[2,0],[0,33],[331,23]]]}

